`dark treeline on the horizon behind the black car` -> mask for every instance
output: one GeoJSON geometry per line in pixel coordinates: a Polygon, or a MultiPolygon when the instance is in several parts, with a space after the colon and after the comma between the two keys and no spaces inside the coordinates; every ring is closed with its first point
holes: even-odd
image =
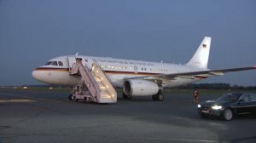
{"type": "Polygon", "coordinates": [[[178,87],[177,89],[256,89],[256,86],[231,86],[229,83],[192,83],[185,86],[178,87]]]}

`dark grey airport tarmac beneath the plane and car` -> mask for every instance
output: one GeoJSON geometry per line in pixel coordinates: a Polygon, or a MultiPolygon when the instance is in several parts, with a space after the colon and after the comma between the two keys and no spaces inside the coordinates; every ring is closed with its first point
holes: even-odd
{"type": "MultiPolygon", "coordinates": [[[[172,91],[172,90],[171,90],[172,91]]],[[[0,143],[255,142],[256,117],[230,122],[201,118],[191,94],[95,104],[67,100],[68,92],[0,89],[0,143]]],[[[212,100],[215,95],[200,95],[212,100]]]]}

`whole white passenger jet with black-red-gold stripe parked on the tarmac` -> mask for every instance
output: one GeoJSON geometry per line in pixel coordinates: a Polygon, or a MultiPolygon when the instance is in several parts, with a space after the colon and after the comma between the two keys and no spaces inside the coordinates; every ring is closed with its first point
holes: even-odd
{"type": "Polygon", "coordinates": [[[32,72],[39,82],[76,86],[83,83],[81,77],[70,75],[75,58],[91,68],[93,62],[101,66],[113,87],[123,89],[123,97],[152,96],[153,100],[164,100],[163,89],[194,83],[225,72],[255,70],[256,66],[210,70],[207,68],[212,37],[204,37],[193,57],[184,65],[151,62],[143,60],[124,60],[109,57],[85,55],[65,55],[49,60],[32,72]]]}

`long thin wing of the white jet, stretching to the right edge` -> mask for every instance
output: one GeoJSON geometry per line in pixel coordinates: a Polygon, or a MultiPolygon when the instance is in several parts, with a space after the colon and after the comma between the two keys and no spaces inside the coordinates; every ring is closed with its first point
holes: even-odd
{"type": "Polygon", "coordinates": [[[144,79],[155,79],[155,78],[167,78],[172,79],[175,77],[182,78],[205,78],[211,76],[222,76],[225,72],[238,72],[238,71],[247,71],[247,70],[256,70],[256,66],[248,66],[248,67],[239,67],[239,68],[229,68],[229,69],[219,69],[219,70],[204,70],[204,71],[195,71],[195,72],[177,72],[170,74],[158,74],[158,75],[150,75],[147,77],[131,77],[132,78],[144,78],[144,79]]]}

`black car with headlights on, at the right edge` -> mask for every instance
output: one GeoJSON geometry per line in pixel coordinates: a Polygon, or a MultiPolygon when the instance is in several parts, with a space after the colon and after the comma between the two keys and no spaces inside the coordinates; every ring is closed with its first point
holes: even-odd
{"type": "Polygon", "coordinates": [[[256,94],[224,94],[217,100],[207,100],[197,106],[201,117],[223,117],[230,121],[234,115],[256,114],[256,94]]]}

